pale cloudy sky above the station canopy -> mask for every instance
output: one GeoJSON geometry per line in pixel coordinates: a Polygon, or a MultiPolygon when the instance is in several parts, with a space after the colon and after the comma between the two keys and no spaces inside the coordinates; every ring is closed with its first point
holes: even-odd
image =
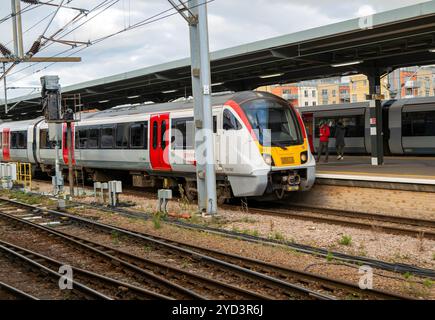
{"type": "MultiPolygon", "coordinates": [[[[58,4],[62,0],[44,1],[58,4]]],[[[100,10],[82,18],[65,31],[83,24],[64,38],[83,42],[92,42],[116,33],[171,8],[167,0],[65,0],[67,2],[70,2],[69,6],[85,9],[105,4],[100,10]]],[[[210,49],[224,49],[421,2],[425,1],[214,0],[208,5],[210,49]]],[[[0,3],[2,19],[10,14],[10,1],[0,0],[0,3]]],[[[22,8],[26,6],[25,3],[22,4],[22,8]]],[[[41,6],[23,14],[23,30],[31,28],[25,33],[26,49],[46,28],[49,15],[54,11],[53,7],[41,6]],[[43,20],[45,17],[47,19],[43,20]],[[38,24],[41,20],[43,21],[38,24]]],[[[166,14],[168,13],[171,11],[166,14]]],[[[55,33],[76,14],[77,11],[61,9],[45,35],[55,33]]],[[[9,19],[0,23],[0,42],[12,49],[11,40],[9,19]]],[[[50,45],[38,56],[53,56],[69,48],[60,44],[50,45]]],[[[61,56],[71,54],[74,50],[61,56]]],[[[62,85],[66,86],[185,58],[188,55],[187,25],[180,16],[173,15],[89,46],[77,53],[77,56],[82,57],[82,63],[20,64],[8,77],[8,86],[39,86],[39,78],[46,74],[59,75],[62,85]]],[[[21,96],[31,91],[8,90],[8,96],[21,96]]],[[[3,98],[3,91],[0,91],[0,97],[3,98]]]]}

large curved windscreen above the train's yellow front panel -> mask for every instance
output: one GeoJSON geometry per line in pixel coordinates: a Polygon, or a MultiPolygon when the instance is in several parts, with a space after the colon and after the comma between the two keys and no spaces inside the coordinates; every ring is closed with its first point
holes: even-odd
{"type": "Polygon", "coordinates": [[[263,146],[287,147],[303,143],[295,112],[286,103],[256,99],[241,105],[263,146]]]}

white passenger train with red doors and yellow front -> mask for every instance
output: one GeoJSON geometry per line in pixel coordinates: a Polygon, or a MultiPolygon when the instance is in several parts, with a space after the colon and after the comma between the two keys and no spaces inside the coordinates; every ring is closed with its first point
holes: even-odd
{"type": "MultiPolygon", "coordinates": [[[[312,187],[315,160],[302,118],[288,102],[252,91],[212,100],[220,202],[268,194],[281,198],[312,187]]],[[[82,113],[73,131],[72,161],[94,181],[129,176],[135,186],[160,187],[166,179],[195,195],[192,102],[82,113]]],[[[65,132],[64,126],[58,142],[64,168],[69,161],[65,132]]],[[[2,123],[0,133],[1,161],[30,162],[53,174],[54,142],[43,118],[2,123]]]]}

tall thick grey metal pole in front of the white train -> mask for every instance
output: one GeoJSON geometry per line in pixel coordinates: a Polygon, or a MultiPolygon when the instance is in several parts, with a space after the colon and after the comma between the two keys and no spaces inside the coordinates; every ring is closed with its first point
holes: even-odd
{"type": "Polygon", "coordinates": [[[217,213],[216,173],[206,1],[192,0],[189,2],[189,9],[197,16],[196,23],[190,23],[190,45],[192,55],[192,90],[195,99],[195,127],[197,132],[200,133],[195,135],[198,205],[203,211],[205,199],[207,214],[214,215],[217,213]],[[206,195],[205,197],[204,194],[206,195]]]}

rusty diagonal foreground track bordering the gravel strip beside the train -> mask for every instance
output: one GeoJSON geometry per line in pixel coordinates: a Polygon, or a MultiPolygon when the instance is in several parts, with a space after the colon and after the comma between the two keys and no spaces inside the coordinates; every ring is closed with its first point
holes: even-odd
{"type": "MultiPolygon", "coordinates": [[[[27,207],[35,210],[34,206],[26,204],[18,204],[16,202],[0,199],[1,201],[7,201],[12,205],[12,208],[16,206],[27,207]]],[[[3,206],[1,207],[3,208],[3,206]]],[[[160,252],[165,252],[168,255],[186,256],[190,255],[194,260],[198,260],[200,263],[206,263],[207,265],[219,266],[221,272],[228,272],[237,270],[245,275],[249,275],[251,279],[257,281],[256,285],[261,283],[265,284],[273,291],[285,292],[285,295],[289,295],[289,298],[317,298],[317,299],[333,299],[333,298],[347,298],[357,297],[360,299],[404,299],[400,295],[377,291],[377,290],[361,290],[358,286],[329,279],[326,277],[316,276],[310,273],[304,273],[288,268],[283,268],[277,265],[268,264],[262,261],[247,259],[240,256],[230,255],[224,252],[210,250],[198,246],[186,245],[174,241],[168,241],[150,235],[144,235],[135,233],[122,228],[101,224],[88,219],[72,216],[65,213],[60,213],[52,210],[44,210],[47,216],[51,219],[57,217],[57,219],[68,219],[68,221],[74,221],[74,225],[81,225],[80,228],[86,226],[87,228],[98,228],[104,231],[106,234],[111,232],[118,232],[123,234],[134,241],[146,243],[160,252]],[[260,282],[261,281],[261,282],[260,282]],[[283,291],[284,290],[284,291],[283,291]],[[296,296],[295,296],[296,294],[296,296]]],[[[58,229],[58,228],[56,228],[58,229]]],[[[83,230],[82,230],[83,231],[83,230]]],[[[91,234],[87,232],[87,234],[91,234]]],[[[89,241],[89,240],[87,240],[89,241]]],[[[107,248],[109,249],[109,248],[107,248]]],[[[123,253],[125,254],[125,253],[123,253]]],[[[123,256],[124,258],[125,255],[123,256]]],[[[158,266],[158,268],[160,268],[158,266]]],[[[270,292],[270,291],[269,291],[270,292]]],[[[273,296],[272,296],[273,297],[273,296]]],[[[276,298],[276,297],[275,297],[276,298]]]]}

